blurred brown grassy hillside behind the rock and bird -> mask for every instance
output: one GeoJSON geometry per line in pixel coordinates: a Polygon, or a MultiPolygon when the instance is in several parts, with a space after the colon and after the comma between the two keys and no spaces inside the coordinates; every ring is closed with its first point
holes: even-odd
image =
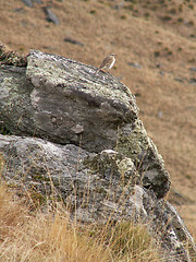
{"type": "Polygon", "coordinates": [[[171,176],[167,199],[196,237],[196,1],[42,0],[29,8],[1,0],[0,43],[7,50],[39,49],[95,67],[117,53],[111,73],[136,95],[171,176]],[[59,25],[47,21],[45,7],[59,25]]]}

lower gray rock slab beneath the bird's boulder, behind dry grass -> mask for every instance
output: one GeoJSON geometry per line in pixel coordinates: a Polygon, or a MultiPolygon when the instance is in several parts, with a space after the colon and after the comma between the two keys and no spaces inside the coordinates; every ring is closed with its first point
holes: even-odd
{"type": "Polygon", "coordinates": [[[192,261],[195,243],[182,218],[169,202],[142,188],[131,158],[112,150],[96,154],[12,135],[0,135],[0,152],[10,187],[47,199],[60,195],[81,222],[145,224],[163,261],[192,261]]]}

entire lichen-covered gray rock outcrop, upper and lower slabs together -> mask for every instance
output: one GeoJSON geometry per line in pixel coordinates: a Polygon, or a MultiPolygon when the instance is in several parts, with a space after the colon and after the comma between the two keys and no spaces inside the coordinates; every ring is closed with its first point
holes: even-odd
{"type": "Polygon", "coordinates": [[[111,74],[32,51],[26,68],[0,68],[0,121],[14,134],[0,135],[9,184],[40,194],[54,187],[83,222],[140,219],[166,261],[191,261],[194,241],[162,199],[162,157],[131,91],[111,74]]]}

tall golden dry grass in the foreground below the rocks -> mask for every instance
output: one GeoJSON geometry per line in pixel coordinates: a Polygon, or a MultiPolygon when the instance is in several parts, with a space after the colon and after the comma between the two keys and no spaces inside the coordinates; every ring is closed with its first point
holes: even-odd
{"type": "Polygon", "coordinates": [[[0,186],[0,261],[158,262],[144,226],[79,226],[60,203],[42,213],[0,186]]]}

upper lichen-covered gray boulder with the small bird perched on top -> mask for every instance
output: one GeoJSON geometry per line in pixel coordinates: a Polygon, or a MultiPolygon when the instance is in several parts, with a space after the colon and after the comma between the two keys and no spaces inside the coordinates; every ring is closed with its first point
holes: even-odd
{"type": "Polygon", "coordinates": [[[0,121],[13,134],[115,150],[132,159],[143,186],[162,198],[170,188],[160,154],[138,118],[131,91],[94,67],[32,51],[27,68],[0,68],[0,121]]]}

